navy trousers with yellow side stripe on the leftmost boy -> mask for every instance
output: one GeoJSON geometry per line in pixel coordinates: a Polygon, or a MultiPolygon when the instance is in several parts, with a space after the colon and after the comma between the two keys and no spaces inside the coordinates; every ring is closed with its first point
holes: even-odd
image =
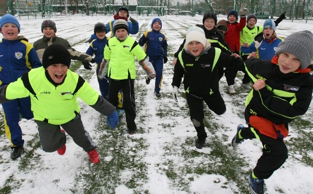
{"type": "Polygon", "coordinates": [[[11,148],[23,147],[22,129],[19,125],[20,114],[24,119],[34,118],[30,108],[30,98],[19,98],[6,103],[2,103],[4,111],[5,134],[11,142],[11,148]]]}

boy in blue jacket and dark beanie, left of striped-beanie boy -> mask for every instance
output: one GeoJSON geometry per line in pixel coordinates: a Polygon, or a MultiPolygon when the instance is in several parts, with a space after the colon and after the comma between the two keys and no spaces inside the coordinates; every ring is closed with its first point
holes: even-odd
{"type": "Polygon", "coordinates": [[[106,100],[108,100],[108,96],[109,96],[108,76],[105,76],[105,79],[99,79],[98,77],[100,65],[102,63],[102,60],[104,59],[104,54],[103,54],[104,47],[108,43],[108,39],[106,37],[107,28],[104,25],[104,23],[98,22],[94,25],[93,32],[97,38],[90,43],[90,46],[86,51],[86,54],[90,56],[92,56],[93,54],[95,55],[94,61],[95,63],[97,63],[96,74],[97,74],[97,80],[99,83],[101,96],[105,98],[106,100]]]}

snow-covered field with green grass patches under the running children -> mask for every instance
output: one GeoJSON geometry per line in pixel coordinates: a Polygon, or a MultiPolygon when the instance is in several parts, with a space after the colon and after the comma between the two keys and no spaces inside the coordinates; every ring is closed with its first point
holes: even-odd
{"type": "MultiPolygon", "coordinates": [[[[133,17],[139,22],[139,33],[151,29],[153,18],[133,17]]],[[[237,149],[230,142],[236,126],[244,124],[244,103],[248,90],[240,87],[242,74],[236,79],[237,94],[228,94],[225,78],[220,90],[227,111],[217,116],[208,108],[205,126],[207,147],[194,146],[196,131],[190,121],[188,107],[179,88],[179,101],[172,99],[174,53],[182,43],[189,26],[202,23],[202,17],[161,17],[162,32],[167,37],[169,61],[164,65],[161,97],[154,95],[154,81],[146,85],[145,75],[137,68],[135,97],[138,132],[128,135],[125,117],[114,130],[105,124],[105,117],[81,102],[82,120],[90,136],[98,145],[100,163],[90,164],[86,152],[67,135],[65,155],[46,153],[40,149],[37,127],[33,120],[20,122],[25,140],[25,154],[16,161],[10,159],[10,144],[2,126],[0,132],[0,193],[1,194],[247,194],[247,175],[261,155],[257,140],[246,140],[237,149]]],[[[218,20],[226,19],[220,16],[218,20]]],[[[41,39],[44,19],[19,19],[20,35],[30,43],[41,39]]],[[[52,17],[56,35],[78,51],[86,52],[85,43],[93,33],[96,22],[109,22],[112,17],[65,16],[52,17]]],[[[263,25],[258,20],[257,25],[263,25]]],[[[278,36],[285,38],[299,30],[313,31],[313,21],[284,20],[276,27],[278,36]]],[[[2,38],[2,34],[0,34],[2,38]]],[[[93,70],[72,62],[77,73],[98,90],[93,70]]],[[[100,92],[99,92],[100,93],[100,92]]],[[[52,99],[51,99],[52,100],[52,99]]],[[[1,108],[2,109],[2,108],[1,108]]],[[[2,112],[2,111],[1,111],[2,112]]],[[[312,194],[313,174],[313,106],[307,114],[291,124],[286,138],[289,158],[267,179],[267,194],[312,194]]],[[[3,123],[3,120],[1,120],[3,123]]]]}

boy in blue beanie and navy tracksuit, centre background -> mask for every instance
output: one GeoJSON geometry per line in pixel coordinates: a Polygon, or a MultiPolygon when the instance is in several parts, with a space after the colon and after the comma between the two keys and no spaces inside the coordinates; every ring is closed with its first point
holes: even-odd
{"type": "MultiPolygon", "coordinates": [[[[156,70],[156,84],[155,94],[157,97],[161,96],[161,82],[163,72],[163,62],[167,62],[167,41],[164,34],[160,32],[162,28],[161,19],[155,18],[151,23],[152,30],[146,31],[139,39],[138,43],[140,46],[145,46],[145,52],[149,56],[149,61],[152,63],[156,70]]],[[[147,78],[146,83],[150,83],[150,79],[147,78]]]]}

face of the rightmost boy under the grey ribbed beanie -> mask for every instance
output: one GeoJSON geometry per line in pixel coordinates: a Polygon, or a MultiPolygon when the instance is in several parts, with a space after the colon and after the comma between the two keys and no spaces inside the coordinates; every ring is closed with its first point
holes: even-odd
{"type": "Polygon", "coordinates": [[[278,66],[282,73],[290,73],[300,67],[299,59],[291,53],[281,53],[278,57],[278,66]]]}

